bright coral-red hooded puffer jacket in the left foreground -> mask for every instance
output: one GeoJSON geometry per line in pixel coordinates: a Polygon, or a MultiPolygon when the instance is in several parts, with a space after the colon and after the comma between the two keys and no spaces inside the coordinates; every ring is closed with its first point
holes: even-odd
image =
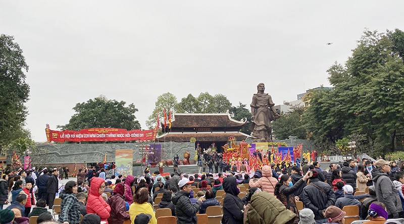
{"type": "Polygon", "coordinates": [[[104,184],[105,181],[102,178],[92,178],[91,186],[87,198],[87,214],[96,214],[101,218],[101,221],[106,221],[108,223],[108,218],[110,217],[111,207],[101,194],[98,193],[99,186],[104,184]]]}

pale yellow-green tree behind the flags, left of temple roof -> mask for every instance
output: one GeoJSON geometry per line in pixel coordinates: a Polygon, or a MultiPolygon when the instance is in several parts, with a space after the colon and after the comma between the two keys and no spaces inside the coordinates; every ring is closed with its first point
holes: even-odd
{"type": "Polygon", "coordinates": [[[175,110],[175,111],[178,110],[177,97],[175,97],[175,95],[170,92],[166,92],[166,93],[163,93],[160,96],[158,96],[155,105],[156,106],[153,109],[153,112],[151,112],[151,115],[148,116],[148,119],[146,121],[146,126],[149,129],[154,128],[157,124],[157,111],[159,111],[160,121],[163,121],[163,123],[164,123],[164,109],[166,109],[166,111],[167,111],[167,119],[168,119],[168,115],[169,115],[168,113],[169,113],[170,109],[175,110]]]}

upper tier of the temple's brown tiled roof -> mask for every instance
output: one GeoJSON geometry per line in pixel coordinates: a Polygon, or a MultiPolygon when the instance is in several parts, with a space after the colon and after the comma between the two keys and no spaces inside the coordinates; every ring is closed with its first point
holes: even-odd
{"type": "Polygon", "coordinates": [[[172,128],[241,127],[245,122],[230,118],[229,114],[175,114],[172,128]]]}

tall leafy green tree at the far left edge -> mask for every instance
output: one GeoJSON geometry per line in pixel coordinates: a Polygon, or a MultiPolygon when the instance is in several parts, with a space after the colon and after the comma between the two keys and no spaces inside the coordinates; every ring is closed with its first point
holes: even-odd
{"type": "Polygon", "coordinates": [[[28,114],[29,86],[25,82],[28,65],[23,51],[13,36],[0,35],[0,152],[20,137],[29,137],[24,130],[28,114]]]}

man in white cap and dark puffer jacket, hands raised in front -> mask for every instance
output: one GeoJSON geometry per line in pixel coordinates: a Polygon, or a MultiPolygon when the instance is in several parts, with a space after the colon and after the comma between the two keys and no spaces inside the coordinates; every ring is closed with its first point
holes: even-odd
{"type": "Polygon", "coordinates": [[[203,197],[200,197],[195,204],[192,204],[189,199],[191,184],[192,181],[182,178],[178,182],[181,191],[177,192],[172,198],[178,224],[196,223],[196,212],[198,212],[200,205],[205,200],[203,197]]]}

